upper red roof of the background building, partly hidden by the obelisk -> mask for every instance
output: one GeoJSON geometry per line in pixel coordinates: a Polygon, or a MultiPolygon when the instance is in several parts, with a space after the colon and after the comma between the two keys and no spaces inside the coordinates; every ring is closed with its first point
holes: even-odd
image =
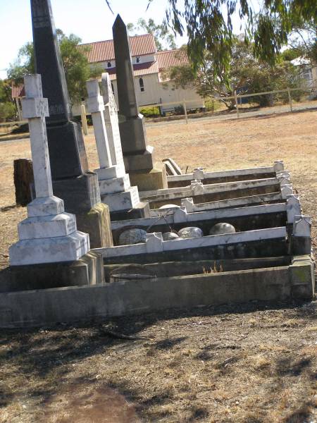
{"type": "MultiPolygon", "coordinates": [[[[144,56],[144,54],[155,54],[156,46],[154,36],[152,34],[135,35],[130,38],[131,56],[144,56]]],[[[114,60],[113,40],[90,42],[80,44],[79,47],[90,47],[90,51],[85,54],[89,63],[96,63],[107,60],[114,60]]]]}

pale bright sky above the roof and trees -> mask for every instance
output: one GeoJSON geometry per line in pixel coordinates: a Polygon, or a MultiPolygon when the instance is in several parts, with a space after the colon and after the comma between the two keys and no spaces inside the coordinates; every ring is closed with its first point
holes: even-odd
{"type": "MultiPolygon", "coordinates": [[[[154,18],[162,23],[166,0],[110,0],[113,14],[105,0],[51,0],[56,28],[66,35],[73,33],[83,43],[112,39],[112,25],[117,13],[125,23],[137,23],[139,18],[154,18]]],[[[236,22],[237,24],[237,22],[236,22]]],[[[0,78],[6,78],[6,68],[18,56],[18,50],[32,41],[30,0],[0,0],[0,78]]],[[[178,46],[187,42],[177,37],[178,46]]]]}

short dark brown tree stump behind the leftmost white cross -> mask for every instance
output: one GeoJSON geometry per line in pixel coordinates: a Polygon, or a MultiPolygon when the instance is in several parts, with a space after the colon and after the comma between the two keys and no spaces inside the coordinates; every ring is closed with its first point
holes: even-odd
{"type": "Polygon", "coordinates": [[[34,182],[31,159],[16,159],[13,161],[15,202],[17,206],[26,206],[32,201],[31,183],[34,182]]]}

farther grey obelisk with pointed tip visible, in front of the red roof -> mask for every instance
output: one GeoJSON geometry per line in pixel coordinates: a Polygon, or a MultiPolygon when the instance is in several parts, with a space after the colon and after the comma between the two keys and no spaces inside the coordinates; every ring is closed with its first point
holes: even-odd
{"type": "Polygon", "coordinates": [[[154,148],[147,145],[144,118],[139,114],[135,94],[130,44],[125,23],[117,16],[113,24],[116,57],[120,138],[125,170],[139,191],[167,188],[165,165],[154,163],[154,148]]]}

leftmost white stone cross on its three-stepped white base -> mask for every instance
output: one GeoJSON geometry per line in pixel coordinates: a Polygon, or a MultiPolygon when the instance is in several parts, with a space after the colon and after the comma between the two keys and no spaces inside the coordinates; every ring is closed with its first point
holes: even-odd
{"type": "Polygon", "coordinates": [[[36,198],[27,206],[27,219],[18,225],[18,243],[9,249],[12,266],[70,262],[89,252],[89,235],[77,231],[76,218],[64,212],[54,197],[45,117],[49,106],[42,94],[41,75],[25,76],[23,118],[28,119],[36,198]]]}

